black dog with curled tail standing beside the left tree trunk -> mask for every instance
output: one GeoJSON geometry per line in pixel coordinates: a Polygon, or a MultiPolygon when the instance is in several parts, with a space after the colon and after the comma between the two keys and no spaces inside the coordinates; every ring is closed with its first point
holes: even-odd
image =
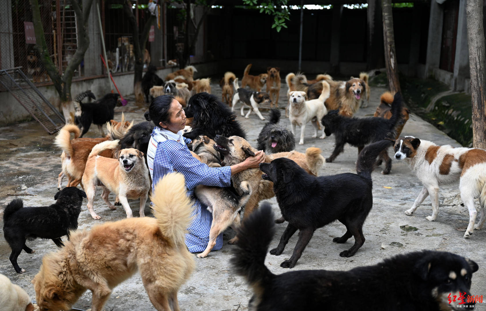
{"type": "Polygon", "coordinates": [[[94,98],[93,93],[86,91],[79,94],[75,99],[77,105],[79,105],[79,107],[76,107],[75,103],[76,125],[81,128],[81,135],[79,137],[83,137],[87,133],[91,123],[98,125],[101,136],[104,136],[103,125],[113,119],[113,115],[115,114],[114,109],[118,104],[120,94],[108,93],[95,102],[83,103],[82,100],[87,96],[94,98]]]}

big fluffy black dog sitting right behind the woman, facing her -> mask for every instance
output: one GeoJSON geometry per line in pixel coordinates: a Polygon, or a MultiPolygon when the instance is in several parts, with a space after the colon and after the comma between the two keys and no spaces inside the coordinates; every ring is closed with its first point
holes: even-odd
{"type": "Polygon", "coordinates": [[[193,95],[184,111],[186,117],[194,118],[191,123],[192,131],[185,133],[184,137],[194,139],[199,135],[206,135],[214,139],[216,135],[222,135],[246,139],[246,132],[236,115],[215,95],[206,92],[193,95]]]}

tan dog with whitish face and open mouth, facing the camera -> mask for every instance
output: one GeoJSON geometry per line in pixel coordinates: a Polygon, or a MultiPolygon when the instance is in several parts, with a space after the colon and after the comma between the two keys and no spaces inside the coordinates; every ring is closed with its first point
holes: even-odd
{"type": "Polygon", "coordinates": [[[115,153],[116,159],[99,156],[105,149],[118,146],[118,140],[106,141],[93,147],[86,162],[83,184],[88,200],[88,210],[93,219],[101,219],[93,210],[96,185],[101,183],[101,197],[112,210],[116,206],[110,203],[108,195],[113,192],[118,196],[128,218],[133,217],[128,199],[140,199],[140,217],[145,216],[145,202],[150,190],[150,179],[143,152],[135,149],[121,149],[115,153]]]}

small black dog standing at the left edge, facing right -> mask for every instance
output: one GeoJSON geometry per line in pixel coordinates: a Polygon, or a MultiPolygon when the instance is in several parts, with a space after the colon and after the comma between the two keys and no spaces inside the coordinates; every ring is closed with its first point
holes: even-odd
{"type": "Polygon", "coordinates": [[[66,187],[56,193],[56,202],[50,206],[23,207],[21,199],[14,199],[3,212],[3,236],[12,253],[10,262],[17,273],[25,272],[17,264],[17,257],[25,250],[28,254],[34,250],[25,245],[27,239],[52,239],[57,247],[62,247],[61,236],[69,230],[78,229],[78,216],[86,193],[76,187],[66,187]]]}

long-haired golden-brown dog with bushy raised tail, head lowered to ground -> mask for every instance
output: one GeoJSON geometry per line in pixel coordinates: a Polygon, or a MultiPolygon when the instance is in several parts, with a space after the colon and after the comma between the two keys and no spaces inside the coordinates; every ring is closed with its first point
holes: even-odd
{"type": "Polygon", "coordinates": [[[32,280],[40,310],[70,310],[90,290],[91,311],[102,311],[112,289],[138,270],[155,309],[179,311],[177,292],[194,269],[184,244],[192,205],[184,176],[166,175],[151,200],[155,218],[129,218],[73,231],[66,246],[44,256],[32,280]]]}

